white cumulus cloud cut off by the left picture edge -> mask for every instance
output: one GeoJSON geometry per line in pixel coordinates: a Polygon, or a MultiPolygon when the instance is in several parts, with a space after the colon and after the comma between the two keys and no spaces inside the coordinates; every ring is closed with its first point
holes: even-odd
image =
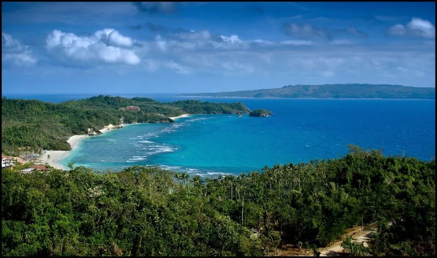
{"type": "Polygon", "coordinates": [[[36,62],[28,46],[22,45],[9,34],[1,33],[1,63],[20,66],[34,65],[36,62]]]}

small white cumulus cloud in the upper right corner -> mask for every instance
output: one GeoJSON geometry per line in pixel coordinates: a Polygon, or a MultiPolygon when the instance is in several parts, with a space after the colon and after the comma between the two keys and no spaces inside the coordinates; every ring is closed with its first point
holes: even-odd
{"type": "Polygon", "coordinates": [[[422,38],[435,38],[436,27],[428,20],[412,18],[407,25],[396,24],[387,29],[391,36],[413,36],[422,38]]]}

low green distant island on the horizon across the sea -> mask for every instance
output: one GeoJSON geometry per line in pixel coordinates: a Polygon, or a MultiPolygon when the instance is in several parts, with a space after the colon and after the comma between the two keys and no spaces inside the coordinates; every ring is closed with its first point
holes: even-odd
{"type": "Polygon", "coordinates": [[[352,99],[435,99],[436,88],[410,87],[390,84],[323,84],[286,85],[282,88],[193,93],[179,96],[251,97],[251,98],[352,98],[352,99]]]}

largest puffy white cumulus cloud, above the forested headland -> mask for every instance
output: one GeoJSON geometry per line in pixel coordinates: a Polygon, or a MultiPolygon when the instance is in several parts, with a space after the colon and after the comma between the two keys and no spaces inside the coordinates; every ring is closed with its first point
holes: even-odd
{"type": "Polygon", "coordinates": [[[68,58],[79,61],[100,61],[137,65],[140,58],[132,47],[134,41],[114,29],[96,31],[92,36],[77,36],[53,30],[46,39],[47,49],[59,50],[68,58]]]}

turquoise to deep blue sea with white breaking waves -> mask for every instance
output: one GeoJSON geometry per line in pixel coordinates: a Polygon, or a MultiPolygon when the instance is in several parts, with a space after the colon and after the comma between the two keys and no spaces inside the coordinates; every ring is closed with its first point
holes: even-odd
{"type": "MultiPolygon", "coordinates": [[[[95,95],[95,94],[94,94],[95,95]]],[[[114,95],[114,94],[112,94],[114,95]]],[[[347,144],[382,147],[385,155],[431,160],[435,155],[435,100],[284,99],[147,96],[168,102],[240,101],[274,115],[196,115],[171,124],[136,124],[87,137],[61,163],[97,170],[132,165],[170,168],[191,175],[239,174],[265,165],[337,158],[347,144]]],[[[92,95],[6,95],[61,102],[92,95]]]]}

